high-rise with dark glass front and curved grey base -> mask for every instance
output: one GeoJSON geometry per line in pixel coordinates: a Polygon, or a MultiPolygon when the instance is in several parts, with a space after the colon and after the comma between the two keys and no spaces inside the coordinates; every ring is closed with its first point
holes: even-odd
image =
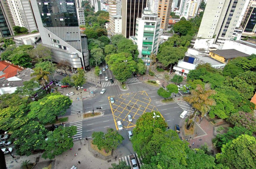
{"type": "Polygon", "coordinates": [[[80,34],[75,0],[31,0],[42,44],[51,49],[54,62],[68,61],[72,68],[88,68],[85,34],[80,34]]]}

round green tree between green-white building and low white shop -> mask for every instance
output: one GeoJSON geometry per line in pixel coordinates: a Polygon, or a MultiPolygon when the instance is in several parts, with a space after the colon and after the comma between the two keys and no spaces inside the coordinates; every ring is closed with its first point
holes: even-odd
{"type": "Polygon", "coordinates": [[[166,46],[165,48],[160,48],[159,50],[160,51],[157,54],[157,59],[167,67],[170,64],[178,62],[179,59],[184,58],[187,48],[166,46]]]}

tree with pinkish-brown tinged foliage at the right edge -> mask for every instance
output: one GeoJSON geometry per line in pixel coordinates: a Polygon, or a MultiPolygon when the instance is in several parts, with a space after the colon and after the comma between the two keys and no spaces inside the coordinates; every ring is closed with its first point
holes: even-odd
{"type": "Polygon", "coordinates": [[[256,118],[252,112],[235,112],[227,120],[235,126],[245,127],[253,132],[256,131],[256,118]]]}

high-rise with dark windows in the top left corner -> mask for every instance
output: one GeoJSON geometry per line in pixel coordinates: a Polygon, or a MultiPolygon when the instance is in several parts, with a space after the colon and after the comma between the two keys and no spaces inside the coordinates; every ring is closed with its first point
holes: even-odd
{"type": "Polygon", "coordinates": [[[13,18],[10,15],[10,9],[5,0],[0,1],[0,37],[13,36],[13,18]]]}

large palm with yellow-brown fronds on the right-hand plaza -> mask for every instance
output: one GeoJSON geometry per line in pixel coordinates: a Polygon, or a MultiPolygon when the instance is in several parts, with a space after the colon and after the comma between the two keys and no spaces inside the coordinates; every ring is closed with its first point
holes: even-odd
{"type": "Polygon", "coordinates": [[[215,90],[210,88],[210,84],[205,84],[205,87],[197,85],[196,89],[191,90],[190,95],[183,97],[183,100],[192,104],[190,109],[190,116],[186,124],[187,130],[191,127],[192,121],[195,119],[196,112],[199,112],[201,116],[204,116],[207,112],[210,111],[210,107],[216,105],[216,102],[209,97],[213,94],[216,94],[215,90]],[[193,115],[191,115],[192,109],[195,109],[193,115]]]}

